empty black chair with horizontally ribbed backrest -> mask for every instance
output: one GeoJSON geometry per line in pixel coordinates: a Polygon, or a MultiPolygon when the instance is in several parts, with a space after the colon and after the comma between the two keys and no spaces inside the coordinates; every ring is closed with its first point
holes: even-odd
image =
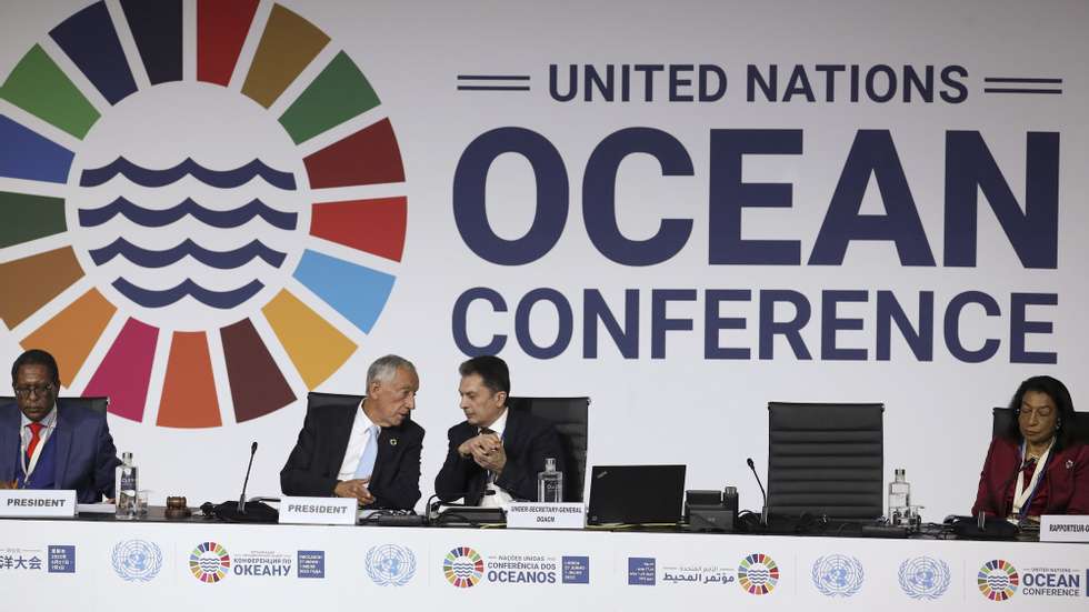
{"type": "Polygon", "coordinates": [[[776,514],[881,516],[885,405],[768,404],[768,505],[776,514]]]}

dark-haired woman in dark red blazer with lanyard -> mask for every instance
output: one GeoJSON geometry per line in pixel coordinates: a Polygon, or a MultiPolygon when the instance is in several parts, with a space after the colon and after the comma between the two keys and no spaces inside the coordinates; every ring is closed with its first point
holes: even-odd
{"type": "Polygon", "coordinates": [[[972,515],[1089,514],[1089,445],[1073,439],[1070,392],[1051,377],[1033,377],[1010,409],[1016,418],[991,440],[972,515]]]}

